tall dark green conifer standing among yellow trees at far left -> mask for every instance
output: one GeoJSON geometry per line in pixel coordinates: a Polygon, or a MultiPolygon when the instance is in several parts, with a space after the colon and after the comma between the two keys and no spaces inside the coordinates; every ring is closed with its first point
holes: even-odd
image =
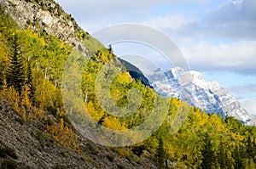
{"type": "Polygon", "coordinates": [[[24,62],[20,52],[18,36],[15,34],[12,53],[9,58],[9,69],[7,70],[8,86],[15,87],[15,90],[21,94],[22,87],[25,84],[24,62]]]}

